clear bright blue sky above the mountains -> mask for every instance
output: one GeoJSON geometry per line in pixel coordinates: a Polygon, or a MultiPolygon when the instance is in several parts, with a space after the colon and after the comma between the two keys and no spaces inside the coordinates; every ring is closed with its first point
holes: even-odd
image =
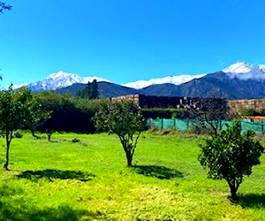
{"type": "Polygon", "coordinates": [[[0,84],[52,72],[118,84],[265,64],[263,0],[5,0],[0,84]]]}

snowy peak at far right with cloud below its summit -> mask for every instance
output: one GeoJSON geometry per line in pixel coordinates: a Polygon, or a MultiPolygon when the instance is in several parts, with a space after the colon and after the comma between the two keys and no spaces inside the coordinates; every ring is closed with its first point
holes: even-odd
{"type": "Polygon", "coordinates": [[[231,79],[239,80],[265,80],[265,65],[249,65],[246,62],[238,62],[222,70],[231,79]]]}

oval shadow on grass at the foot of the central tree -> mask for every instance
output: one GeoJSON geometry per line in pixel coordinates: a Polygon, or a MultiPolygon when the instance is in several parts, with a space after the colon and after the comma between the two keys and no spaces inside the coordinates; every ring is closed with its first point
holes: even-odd
{"type": "Polygon", "coordinates": [[[183,173],[165,166],[159,165],[134,165],[133,169],[139,174],[157,179],[183,178],[183,173]]]}

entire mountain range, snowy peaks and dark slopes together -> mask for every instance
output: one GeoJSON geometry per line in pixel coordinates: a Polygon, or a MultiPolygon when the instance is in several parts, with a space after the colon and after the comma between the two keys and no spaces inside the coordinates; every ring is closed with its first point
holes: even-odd
{"type": "Polygon", "coordinates": [[[57,72],[45,80],[27,84],[33,91],[57,90],[58,93],[75,95],[92,80],[98,81],[103,97],[117,95],[160,95],[191,97],[225,97],[252,99],[265,97],[265,65],[239,62],[221,71],[201,75],[178,75],[162,79],[138,80],[123,86],[100,77],[79,77],[76,74],[57,72]]]}

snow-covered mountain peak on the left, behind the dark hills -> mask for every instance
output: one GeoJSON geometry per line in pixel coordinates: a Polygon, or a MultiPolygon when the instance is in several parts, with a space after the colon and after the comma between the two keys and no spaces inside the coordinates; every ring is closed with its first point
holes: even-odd
{"type": "Polygon", "coordinates": [[[32,91],[54,90],[58,88],[65,88],[75,83],[87,84],[88,81],[92,82],[93,80],[110,82],[110,80],[102,79],[96,76],[80,77],[79,75],[74,73],[60,71],[60,72],[51,73],[49,77],[44,80],[38,80],[34,83],[29,83],[29,84],[25,83],[21,85],[14,85],[13,88],[20,88],[22,86],[27,86],[27,88],[30,88],[32,91]]]}

